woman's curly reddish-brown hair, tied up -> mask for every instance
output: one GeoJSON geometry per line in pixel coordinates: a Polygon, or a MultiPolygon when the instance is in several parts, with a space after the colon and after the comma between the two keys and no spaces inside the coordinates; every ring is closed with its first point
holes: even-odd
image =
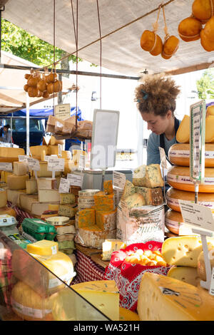
{"type": "Polygon", "coordinates": [[[143,83],[136,88],[135,101],[140,113],[165,116],[168,110],[174,113],[178,93],[180,88],[172,78],[163,74],[145,75],[143,83]]]}

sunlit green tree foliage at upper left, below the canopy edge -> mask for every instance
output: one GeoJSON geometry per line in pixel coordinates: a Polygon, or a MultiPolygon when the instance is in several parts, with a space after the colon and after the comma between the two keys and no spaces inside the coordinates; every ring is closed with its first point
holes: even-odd
{"type": "MultiPolygon", "coordinates": [[[[54,46],[4,19],[1,24],[1,48],[41,67],[54,63],[54,46]]],[[[55,61],[65,55],[66,51],[55,48],[55,61]]],[[[76,63],[76,56],[69,56],[68,61],[76,63]]],[[[78,58],[78,61],[82,59],[78,58]]],[[[61,64],[56,67],[60,68],[61,64]]]]}

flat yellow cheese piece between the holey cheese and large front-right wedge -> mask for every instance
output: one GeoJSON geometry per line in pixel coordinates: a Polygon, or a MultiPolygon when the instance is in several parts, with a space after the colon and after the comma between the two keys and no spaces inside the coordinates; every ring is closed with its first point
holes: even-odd
{"type": "Polygon", "coordinates": [[[168,274],[168,277],[178,279],[181,282],[191,284],[195,287],[200,284],[200,277],[198,275],[198,270],[196,267],[171,267],[168,274]]]}

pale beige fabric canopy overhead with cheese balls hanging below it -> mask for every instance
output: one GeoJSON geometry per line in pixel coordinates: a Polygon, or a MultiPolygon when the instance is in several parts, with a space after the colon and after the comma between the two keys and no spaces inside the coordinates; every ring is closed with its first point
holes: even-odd
{"type": "MultiPolygon", "coordinates": [[[[76,51],[71,3],[71,0],[55,1],[56,46],[68,53],[76,51]]],[[[205,51],[200,40],[185,42],[180,39],[178,51],[168,60],[151,56],[141,49],[141,34],[146,29],[153,30],[160,4],[166,4],[168,33],[179,38],[178,24],[191,15],[193,0],[73,0],[78,56],[97,65],[101,59],[103,67],[127,76],[141,76],[145,69],[148,73],[178,74],[212,66],[214,52],[205,51]]],[[[9,0],[2,16],[29,33],[54,43],[53,0],[29,0],[27,5],[26,0],[9,0]]],[[[162,39],[165,36],[162,12],[158,34],[162,39]]]]}

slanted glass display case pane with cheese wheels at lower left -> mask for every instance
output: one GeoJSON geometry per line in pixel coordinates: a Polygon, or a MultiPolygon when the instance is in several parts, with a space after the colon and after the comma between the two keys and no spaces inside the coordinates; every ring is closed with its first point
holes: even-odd
{"type": "Polygon", "coordinates": [[[0,230],[1,321],[108,321],[0,230]]]}

